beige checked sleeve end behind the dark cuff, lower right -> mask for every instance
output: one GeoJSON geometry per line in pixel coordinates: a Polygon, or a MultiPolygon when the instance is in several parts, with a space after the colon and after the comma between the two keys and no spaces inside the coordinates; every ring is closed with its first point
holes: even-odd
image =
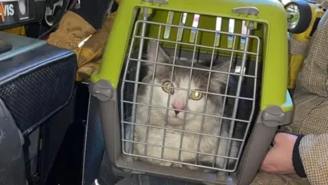
{"type": "Polygon", "coordinates": [[[306,135],[299,143],[299,154],[310,184],[328,184],[328,134],[306,135]]]}

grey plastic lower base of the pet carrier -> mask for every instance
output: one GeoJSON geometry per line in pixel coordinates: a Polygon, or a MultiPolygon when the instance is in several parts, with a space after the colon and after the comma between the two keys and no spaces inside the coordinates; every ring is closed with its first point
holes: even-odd
{"type": "MultiPolygon", "coordinates": [[[[279,125],[290,123],[292,112],[282,112],[277,106],[266,110],[258,110],[252,130],[245,145],[243,155],[235,173],[208,175],[199,171],[189,171],[172,167],[159,167],[144,162],[135,162],[122,155],[121,130],[119,119],[120,89],[113,89],[106,80],[90,84],[90,93],[97,97],[100,106],[102,131],[105,137],[105,147],[109,163],[113,165],[110,171],[115,175],[126,176],[118,184],[250,184],[264,159],[279,125]],[[263,147],[266,146],[266,147],[263,147]],[[134,175],[131,175],[134,174],[134,175]],[[155,176],[160,177],[155,177],[155,176]],[[176,181],[178,180],[178,181],[176,181]],[[187,182],[185,182],[187,180],[187,182]]],[[[289,96],[288,94],[286,96],[289,96]]],[[[289,98],[289,97],[288,97],[289,98]]],[[[108,166],[109,164],[105,164],[108,166]]],[[[102,175],[100,172],[100,179],[102,175]]]]}

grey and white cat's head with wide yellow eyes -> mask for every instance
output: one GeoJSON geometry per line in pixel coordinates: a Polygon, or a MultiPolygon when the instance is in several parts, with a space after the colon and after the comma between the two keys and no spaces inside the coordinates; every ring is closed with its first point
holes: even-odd
{"type": "MultiPolygon", "coordinates": [[[[156,42],[150,41],[148,43],[148,61],[156,61],[156,69],[153,63],[147,63],[147,76],[143,82],[152,84],[152,76],[154,73],[154,84],[159,86],[140,86],[139,97],[143,99],[144,103],[148,104],[150,99],[150,92],[152,90],[151,104],[154,106],[161,106],[163,108],[152,108],[150,116],[156,117],[156,120],[164,121],[167,114],[167,123],[169,125],[182,125],[185,121],[202,121],[202,115],[193,114],[189,112],[202,113],[205,109],[206,114],[218,115],[221,114],[222,97],[218,95],[208,95],[202,92],[220,93],[221,87],[226,85],[228,75],[223,73],[211,73],[210,84],[208,86],[208,71],[201,71],[191,69],[185,66],[191,66],[191,62],[184,62],[176,60],[174,66],[174,73],[172,76],[172,66],[163,64],[173,64],[174,60],[169,57],[162,47],[159,47],[156,58],[156,42]],[[191,75],[191,78],[190,78],[191,75]],[[181,88],[174,89],[169,87],[181,88]],[[208,88],[208,89],[207,89],[208,88]],[[176,110],[168,110],[165,108],[174,108],[176,110]],[[189,112],[183,112],[187,110],[189,112]]],[[[194,67],[200,69],[209,69],[201,64],[194,64],[194,67]]],[[[227,72],[229,64],[223,66],[215,66],[213,70],[227,72]]]]}

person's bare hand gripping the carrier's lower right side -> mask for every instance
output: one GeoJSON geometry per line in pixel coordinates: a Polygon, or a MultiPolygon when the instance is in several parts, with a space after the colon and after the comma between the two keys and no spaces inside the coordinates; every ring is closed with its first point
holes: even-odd
{"type": "Polygon", "coordinates": [[[292,150],[296,140],[295,135],[277,133],[273,140],[273,147],[262,163],[262,171],[277,174],[295,173],[292,165],[292,150]]]}

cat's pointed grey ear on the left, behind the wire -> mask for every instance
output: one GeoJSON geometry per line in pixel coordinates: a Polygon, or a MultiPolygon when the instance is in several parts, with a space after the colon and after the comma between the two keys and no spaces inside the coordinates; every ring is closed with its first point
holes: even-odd
{"type": "MultiPolygon", "coordinates": [[[[148,48],[147,48],[147,58],[150,62],[159,62],[159,63],[170,63],[172,61],[172,58],[169,57],[169,54],[166,53],[166,51],[159,45],[159,49],[157,50],[157,42],[154,40],[149,40],[148,42],[148,48]],[[157,56],[156,56],[156,50],[157,56]],[[157,60],[156,60],[157,57],[157,60]]],[[[153,65],[151,63],[148,63],[150,65],[153,65]]]]}

